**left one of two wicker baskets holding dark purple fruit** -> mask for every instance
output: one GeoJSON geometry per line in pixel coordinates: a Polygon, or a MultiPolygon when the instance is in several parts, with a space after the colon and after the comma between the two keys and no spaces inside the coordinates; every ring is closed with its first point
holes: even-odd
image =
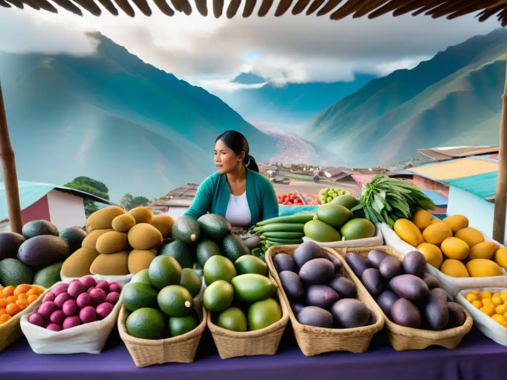
{"type": "MultiPolygon", "coordinates": [[[[283,302],[288,308],[289,317],[291,318],[291,323],[294,328],[294,334],[296,335],[296,340],[303,354],[305,356],[314,356],[332,351],[350,351],[355,353],[367,351],[373,335],[384,326],[382,311],[375,301],[368,296],[369,294],[366,289],[358,286],[357,278],[354,279],[352,277],[352,271],[345,264],[345,260],[341,256],[338,256],[338,259],[342,262],[342,276],[354,281],[357,287],[357,298],[368,306],[375,317],[375,323],[364,327],[338,329],[302,325],[298,322],[291,307],[289,306],[289,301],[283,291],[280,278],[278,277],[278,273],[273,265],[273,256],[276,253],[285,252],[292,255],[297,247],[297,245],[271,247],[266,252],[266,262],[271,275],[275,278],[275,281],[278,284],[283,302]]],[[[322,249],[331,254],[334,253],[334,251],[329,248],[322,249]]]]}

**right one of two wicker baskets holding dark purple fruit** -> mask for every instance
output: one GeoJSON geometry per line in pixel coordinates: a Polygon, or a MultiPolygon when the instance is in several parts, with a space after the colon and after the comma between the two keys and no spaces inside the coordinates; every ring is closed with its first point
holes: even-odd
{"type": "MultiPolygon", "coordinates": [[[[359,256],[363,258],[367,258],[368,252],[373,249],[377,249],[379,251],[383,251],[389,255],[395,256],[403,261],[403,255],[396,251],[394,248],[389,246],[377,246],[377,247],[356,247],[356,248],[338,248],[335,249],[335,252],[338,253],[340,257],[344,257],[347,252],[357,253],[359,256]]],[[[347,268],[348,265],[347,265],[347,268]]],[[[363,289],[363,291],[368,295],[372,302],[375,302],[373,297],[368,293],[364,285],[359,281],[357,276],[351,272],[351,277],[354,279],[357,287],[363,289]]],[[[465,313],[466,319],[465,323],[462,326],[450,328],[442,331],[431,331],[431,330],[422,330],[418,328],[405,327],[398,325],[396,323],[391,322],[385,314],[381,311],[382,316],[385,320],[385,325],[389,330],[389,340],[391,342],[391,346],[396,351],[406,351],[406,350],[424,350],[429,346],[442,346],[448,349],[456,348],[461,339],[465,334],[470,331],[472,328],[473,320],[470,314],[466,310],[463,309],[465,313]]]]}

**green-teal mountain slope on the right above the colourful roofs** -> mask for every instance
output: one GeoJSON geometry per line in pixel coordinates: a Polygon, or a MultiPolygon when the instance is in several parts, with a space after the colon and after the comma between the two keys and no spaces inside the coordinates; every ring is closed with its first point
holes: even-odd
{"type": "Polygon", "coordinates": [[[477,35],[374,79],[300,133],[351,167],[404,160],[421,148],[498,144],[506,39],[505,29],[477,35]]]}

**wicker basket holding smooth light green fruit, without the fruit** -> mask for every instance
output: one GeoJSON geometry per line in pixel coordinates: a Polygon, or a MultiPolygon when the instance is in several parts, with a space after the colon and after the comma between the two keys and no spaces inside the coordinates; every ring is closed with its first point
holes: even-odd
{"type": "MultiPolygon", "coordinates": [[[[273,279],[270,276],[271,279],[273,279]]],[[[285,326],[288,323],[288,310],[283,302],[280,290],[276,291],[282,318],[260,330],[237,332],[215,325],[208,313],[208,328],[222,359],[237,356],[274,355],[278,350],[285,326]]]]}

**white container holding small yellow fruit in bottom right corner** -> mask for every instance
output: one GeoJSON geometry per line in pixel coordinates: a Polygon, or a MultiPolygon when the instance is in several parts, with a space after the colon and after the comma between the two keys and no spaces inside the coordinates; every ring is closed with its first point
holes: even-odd
{"type": "Polygon", "coordinates": [[[507,346],[507,327],[503,327],[498,322],[488,317],[486,314],[477,309],[472,303],[468,302],[465,298],[466,294],[471,291],[478,290],[489,290],[491,294],[496,292],[507,291],[507,288],[472,288],[460,290],[455,297],[455,301],[459,303],[468,313],[472,316],[475,325],[479,330],[491,340],[495,341],[499,345],[507,346]]]}

